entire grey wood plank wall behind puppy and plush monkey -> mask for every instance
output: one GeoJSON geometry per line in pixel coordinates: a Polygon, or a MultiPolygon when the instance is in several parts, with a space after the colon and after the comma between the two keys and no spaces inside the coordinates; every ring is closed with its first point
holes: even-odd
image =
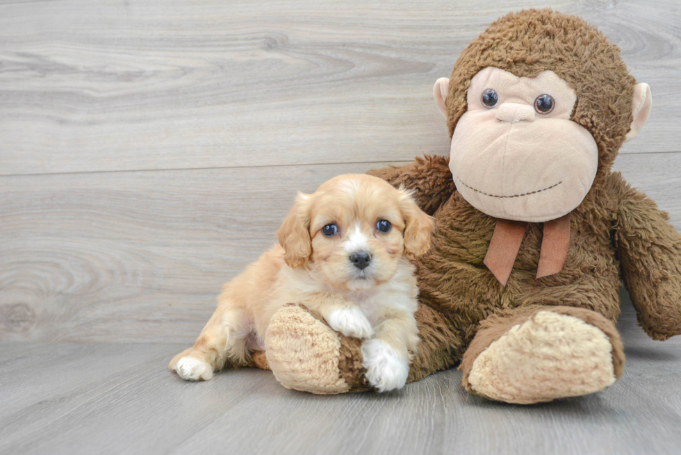
{"type": "Polygon", "coordinates": [[[296,190],[447,154],[432,84],[531,6],[650,84],[615,168],[681,229],[678,1],[0,0],[0,340],[192,342],[296,190]]]}

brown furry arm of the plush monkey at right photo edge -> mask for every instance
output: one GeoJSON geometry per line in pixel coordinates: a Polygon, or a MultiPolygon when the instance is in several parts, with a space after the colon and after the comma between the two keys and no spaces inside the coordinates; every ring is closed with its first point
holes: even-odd
{"type": "Polygon", "coordinates": [[[639,324],[654,340],[681,333],[681,235],[666,212],[621,176],[614,239],[639,324]]]}

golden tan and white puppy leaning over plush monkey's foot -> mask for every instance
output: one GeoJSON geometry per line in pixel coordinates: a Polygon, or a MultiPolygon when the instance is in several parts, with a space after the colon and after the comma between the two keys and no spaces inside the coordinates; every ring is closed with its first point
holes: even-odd
{"type": "Polygon", "coordinates": [[[225,366],[252,365],[272,315],[295,303],[364,340],[372,386],[401,388],[419,341],[418,288],[407,258],[428,250],[432,226],[408,192],[365,174],[299,193],[277,232],[279,245],[224,286],[197,342],[172,359],[170,370],[197,381],[225,366]]]}

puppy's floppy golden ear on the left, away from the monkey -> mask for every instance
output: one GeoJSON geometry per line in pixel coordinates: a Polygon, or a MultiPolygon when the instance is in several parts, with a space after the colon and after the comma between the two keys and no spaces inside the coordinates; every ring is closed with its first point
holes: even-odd
{"type": "Polygon", "coordinates": [[[277,231],[279,245],[284,248],[284,260],[291,267],[304,264],[312,253],[309,199],[309,195],[299,192],[286,220],[277,231]]]}

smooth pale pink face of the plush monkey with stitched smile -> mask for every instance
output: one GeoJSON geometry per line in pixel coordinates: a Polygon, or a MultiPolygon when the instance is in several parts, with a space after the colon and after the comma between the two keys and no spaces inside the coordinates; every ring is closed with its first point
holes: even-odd
{"type": "Polygon", "coordinates": [[[575,90],[552,71],[518,77],[488,67],[468,88],[452,136],[457,190],[478,210],[543,222],[581,204],[598,169],[598,146],[572,122],[575,90]]]}

